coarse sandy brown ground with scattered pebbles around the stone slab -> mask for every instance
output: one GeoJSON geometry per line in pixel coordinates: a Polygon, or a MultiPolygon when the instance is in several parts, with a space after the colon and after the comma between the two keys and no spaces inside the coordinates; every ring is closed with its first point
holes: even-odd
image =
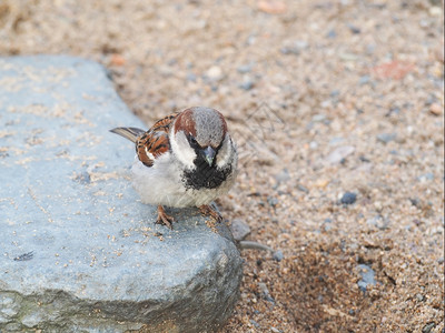
{"type": "Polygon", "coordinates": [[[434,0],[1,0],[0,54],[97,60],[147,124],[227,117],[219,204],[284,259],[244,251],[222,332],[444,332],[443,23],[434,0]]]}

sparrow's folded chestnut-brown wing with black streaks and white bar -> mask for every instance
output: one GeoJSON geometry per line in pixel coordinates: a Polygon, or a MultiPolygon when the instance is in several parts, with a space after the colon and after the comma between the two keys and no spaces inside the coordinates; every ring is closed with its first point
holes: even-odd
{"type": "Polygon", "coordinates": [[[155,159],[170,150],[168,132],[179,113],[169,114],[157,122],[136,140],[136,152],[146,167],[152,167],[155,159]]]}

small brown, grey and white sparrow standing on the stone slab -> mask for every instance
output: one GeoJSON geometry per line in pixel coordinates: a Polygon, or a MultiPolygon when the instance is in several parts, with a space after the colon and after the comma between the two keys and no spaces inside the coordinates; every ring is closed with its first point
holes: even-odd
{"type": "Polygon", "coordinates": [[[156,223],[172,229],[174,218],[164,206],[198,206],[221,221],[209,204],[234,185],[238,154],[219,111],[194,107],[158,120],[148,131],[110,132],[135,142],[132,185],[142,203],[158,206],[156,223]]]}

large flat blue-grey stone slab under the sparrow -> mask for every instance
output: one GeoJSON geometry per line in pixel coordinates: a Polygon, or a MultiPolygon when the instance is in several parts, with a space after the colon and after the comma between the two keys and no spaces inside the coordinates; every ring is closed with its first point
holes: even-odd
{"type": "Polygon", "coordinates": [[[230,315],[243,265],[230,232],[196,209],[170,211],[174,231],[155,225],[118,125],[145,128],[99,64],[0,59],[1,332],[212,331],[230,315]]]}

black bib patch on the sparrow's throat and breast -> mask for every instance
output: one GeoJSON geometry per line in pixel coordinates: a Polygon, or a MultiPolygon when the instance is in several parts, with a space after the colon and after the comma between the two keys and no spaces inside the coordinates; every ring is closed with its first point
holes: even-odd
{"type": "Polygon", "coordinates": [[[218,188],[231,173],[231,165],[218,169],[215,163],[209,165],[200,155],[194,161],[196,169],[185,171],[182,180],[188,189],[215,189],[218,188]]]}

